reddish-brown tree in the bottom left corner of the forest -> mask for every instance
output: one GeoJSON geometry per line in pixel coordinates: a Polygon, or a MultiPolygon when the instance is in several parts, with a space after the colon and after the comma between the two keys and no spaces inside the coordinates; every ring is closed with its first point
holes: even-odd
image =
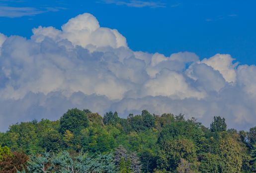
{"type": "Polygon", "coordinates": [[[5,156],[0,162],[1,173],[17,173],[26,170],[28,156],[22,152],[13,152],[12,155],[5,156]]]}

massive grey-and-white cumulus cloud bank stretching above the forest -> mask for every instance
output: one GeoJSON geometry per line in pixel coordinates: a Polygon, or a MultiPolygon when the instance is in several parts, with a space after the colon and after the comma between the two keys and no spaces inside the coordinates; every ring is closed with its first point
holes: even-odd
{"type": "Polygon", "coordinates": [[[229,128],[255,126],[255,65],[234,63],[229,54],[200,61],[191,52],[133,51],[88,13],[61,30],[32,31],[28,40],[0,34],[1,131],[20,121],[56,120],[72,107],[121,117],[143,109],[182,113],[205,126],[219,115],[229,128]]]}

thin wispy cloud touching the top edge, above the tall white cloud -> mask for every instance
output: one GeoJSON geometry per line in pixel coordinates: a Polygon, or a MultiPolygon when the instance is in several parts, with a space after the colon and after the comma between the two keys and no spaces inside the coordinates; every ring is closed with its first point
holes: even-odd
{"type": "Polygon", "coordinates": [[[126,5],[129,7],[151,7],[151,8],[164,8],[166,7],[165,3],[160,1],[143,1],[143,0],[102,0],[101,2],[107,4],[116,4],[116,5],[126,5]]]}

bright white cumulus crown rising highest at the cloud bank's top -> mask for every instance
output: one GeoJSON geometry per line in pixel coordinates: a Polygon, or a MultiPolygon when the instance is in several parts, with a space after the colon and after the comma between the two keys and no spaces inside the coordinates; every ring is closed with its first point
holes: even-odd
{"type": "Polygon", "coordinates": [[[90,46],[90,44],[97,47],[111,46],[113,48],[127,46],[125,37],[117,30],[100,27],[97,19],[88,13],[70,19],[61,28],[62,31],[53,27],[39,26],[33,29],[31,38],[38,43],[45,37],[55,41],[68,39],[73,45],[81,45],[83,47],[90,46]]]}

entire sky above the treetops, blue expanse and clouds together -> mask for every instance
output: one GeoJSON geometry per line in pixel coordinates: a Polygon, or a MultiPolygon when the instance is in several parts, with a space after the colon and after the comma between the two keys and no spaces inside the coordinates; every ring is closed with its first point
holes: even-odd
{"type": "Polygon", "coordinates": [[[256,122],[254,0],[0,0],[0,131],[103,115],[256,122]]]}

